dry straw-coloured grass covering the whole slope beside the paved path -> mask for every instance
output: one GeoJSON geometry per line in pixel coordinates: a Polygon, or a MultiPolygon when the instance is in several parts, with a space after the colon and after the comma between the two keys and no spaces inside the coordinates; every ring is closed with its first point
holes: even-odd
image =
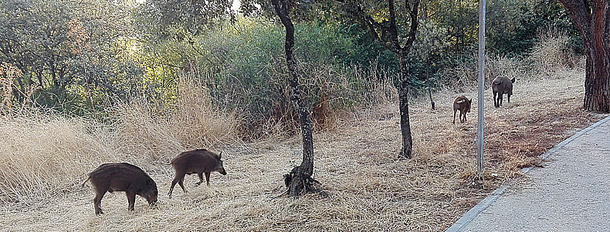
{"type": "MultiPolygon", "coordinates": [[[[425,98],[413,101],[415,152],[411,160],[396,160],[400,133],[393,102],[343,115],[336,129],[316,134],[315,178],[329,198],[273,198],[283,189],[282,174],[300,162],[299,137],[227,145],[222,150],[228,175],[214,173],[210,187],[196,188],[192,184],[196,177],[189,176],[185,182],[190,192],[177,189],[175,197],[168,199],[164,193],[173,171],[154,163],[155,158],[162,161],[177,154],[187,147],[184,141],[221,141],[209,139],[222,137],[221,129],[214,129],[216,134],[207,140],[181,135],[181,131],[197,133],[205,126],[186,130],[180,126],[200,123],[199,118],[176,116],[175,121],[163,121],[148,116],[147,108],[124,111],[133,120],[126,120],[114,132],[80,119],[4,120],[0,124],[5,136],[0,140],[4,175],[0,191],[21,203],[5,202],[0,207],[0,230],[441,231],[501,183],[519,176],[520,167],[536,164],[536,156],[601,118],[582,110],[582,72],[564,70],[552,75],[553,81],[518,79],[513,101],[498,109],[486,91],[486,181],[482,186],[471,185],[476,106],[467,123],[451,124],[453,98],[461,94],[472,98],[474,92],[437,93],[436,110],[430,109],[425,98]],[[118,159],[142,166],[157,181],[163,194],[157,208],[149,208],[138,198],[135,212],[128,212],[125,196],[116,193],[103,201],[106,214],[94,215],[91,188],[77,185],[100,162],[118,159]],[[48,187],[53,185],[61,188],[48,187]],[[63,191],[46,192],[58,189],[63,191]],[[42,199],[38,196],[52,197],[32,200],[42,199]]],[[[207,122],[215,121],[201,123],[207,122]]],[[[214,142],[189,146],[198,145],[214,142]]]]}

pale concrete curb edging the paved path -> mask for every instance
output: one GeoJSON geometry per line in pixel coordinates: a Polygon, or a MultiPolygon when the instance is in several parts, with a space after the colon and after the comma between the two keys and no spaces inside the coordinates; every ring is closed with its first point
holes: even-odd
{"type": "MultiPolygon", "coordinates": [[[[563,142],[555,145],[553,148],[551,148],[550,150],[546,151],[545,153],[543,153],[539,157],[541,159],[549,158],[551,155],[557,153],[557,151],[559,149],[565,147],[566,145],[568,145],[569,143],[571,143],[575,139],[583,136],[587,132],[595,129],[596,127],[598,127],[598,126],[600,126],[600,125],[602,125],[602,124],[604,124],[604,123],[606,123],[608,121],[610,121],[610,116],[600,120],[599,122],[594,123],[593,125],[591,125],[591,126],[585,128],[585,129],[579,131],[578,133],[572,135],[570,138],[568,138],[568,139],[564,140],[563,142]]],[[[533,167],[527,167],[527,168],[521,169],[521,171],[523,173],[528,173],[532,169],[533,169],[533,167]]],[[[520,178],[514,179],[514,180],[510,181],[508,184],[502,185],[500,188],[494,190],[489,196],[487,196],[485,199],[483,199],[477,205],[472,207],[472,209],[468,210],[468,212],[466,212],[466,214],[464,214],[459,220],[457,220],[455,223],[453,223],[453,225],[451,225],[451,227],[449,227],[447,230],[445,230],[445,232],[462,231],[464,229],[464,227],[466,227],[468,224],[470,224],[470,222],[472,222],[472,220],[474,220],[481,212],[483,212],[483,210],[485,210],[487,207],[489,207],[502,194],[504,194],[504,192],[506,192],[508,187],[516,184],[519,181],[519,179],[520,178]]]]}

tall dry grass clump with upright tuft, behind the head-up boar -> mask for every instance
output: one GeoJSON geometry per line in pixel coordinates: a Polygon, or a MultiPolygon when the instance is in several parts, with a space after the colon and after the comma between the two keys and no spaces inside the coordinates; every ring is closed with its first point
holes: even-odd
{"type": "Polygon", "coordinates": [[[167,106],[136,100],[117,108],[116,129],[122,152],[167,163],[187,149],[240,142],[238,113],[212,105],[201,83],[183,76],[178,93],[175,102],[167,106]]]}

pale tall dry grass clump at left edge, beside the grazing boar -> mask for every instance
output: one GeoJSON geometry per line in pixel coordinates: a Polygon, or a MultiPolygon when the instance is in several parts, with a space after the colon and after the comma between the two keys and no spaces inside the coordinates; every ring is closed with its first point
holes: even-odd
{"type": "Polygon", "coordinates": [[[0,119],[0,202],[65,193],[100,162],[121,160],[109,128],[82,118],[20,114],[0,119]]]}

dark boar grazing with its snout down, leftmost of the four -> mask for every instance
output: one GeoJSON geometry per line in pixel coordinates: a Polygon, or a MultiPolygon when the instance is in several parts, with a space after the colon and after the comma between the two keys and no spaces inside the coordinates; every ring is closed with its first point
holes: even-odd
{"type": "Polygon", "coordinates": [[[95,198],[93,206],[95,214],[102,214],[102,198],[106,192],[124,191],[129,202],[128,210],[133,211],[136,202],[136,195],[146,198],[149,205],[157,202],[157,184],[142,169],[128,163],[107,163],[102,164],[93,172],[89,173],[89,178],[83,182],[90,181],[95,188],[95,198]]]}

